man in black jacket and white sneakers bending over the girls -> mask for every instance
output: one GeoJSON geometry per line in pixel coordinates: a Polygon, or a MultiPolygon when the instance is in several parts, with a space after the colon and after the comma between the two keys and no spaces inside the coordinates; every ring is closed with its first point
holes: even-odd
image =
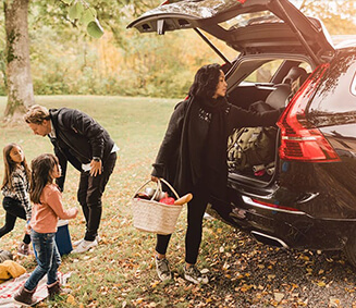
{"type": "Polygon", "coordinates": [[[25,114],[25,121],[36,135],[50,138],[62,169],[57,182],[61,190],[67,162],[81,172],[77,198],[86,220],[86,233],[74,243],[77,247],[73,252],[97,246],[101,196],[114,169],[118,147],[98,122],[78,110],[48,110],[35,104],[25,114]]]}

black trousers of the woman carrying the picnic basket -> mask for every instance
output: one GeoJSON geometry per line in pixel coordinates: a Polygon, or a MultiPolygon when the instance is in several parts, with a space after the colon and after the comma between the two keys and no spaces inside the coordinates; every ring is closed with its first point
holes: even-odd
{"type": "MultiPolygon", "coordinates": [[[[195,264],[199,254],[202,234],[202,218],[209,201],[209,193],[205,185],[193,189],[193,199],[187,208],[187,230],[185,234],[185,261],[195,264]]],[[[171,234],[157,235],[156,251],[165,255],[171,234]]]]}

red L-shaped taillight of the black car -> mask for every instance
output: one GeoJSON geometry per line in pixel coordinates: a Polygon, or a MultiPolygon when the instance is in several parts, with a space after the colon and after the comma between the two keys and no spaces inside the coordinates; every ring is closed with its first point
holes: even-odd
{"type": "Polygon", "coordinates": [[[321,64],[304,83],[283,112],[277,125],[281,128],[280,158],[314,162],[340,161],[321,132],[306,119],[307,103],[314,97],[329,64],[321,64]]]}

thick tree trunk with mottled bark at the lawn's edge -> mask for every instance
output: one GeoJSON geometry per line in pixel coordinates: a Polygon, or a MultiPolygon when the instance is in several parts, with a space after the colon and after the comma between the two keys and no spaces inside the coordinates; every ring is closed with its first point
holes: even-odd
{"type": "Polygon", "coordinates": [[[16,118],[35,101],[29,64],[29,0],[4,0],[8,104],[4,115],[16,118]]]}

